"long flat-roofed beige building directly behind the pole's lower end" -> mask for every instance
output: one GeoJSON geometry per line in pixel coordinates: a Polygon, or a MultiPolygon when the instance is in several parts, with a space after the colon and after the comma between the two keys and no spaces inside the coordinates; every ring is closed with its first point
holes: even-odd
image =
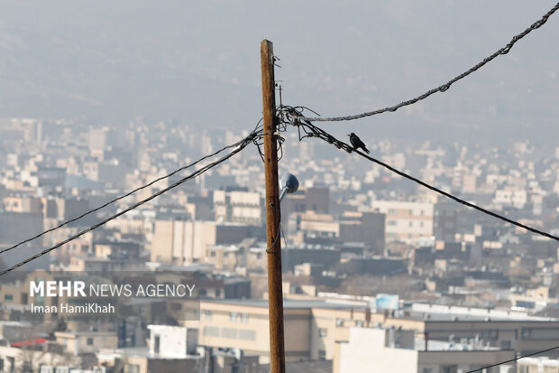
{"type": "MultiPolygon", "coordinates": [[[[364,307],[352,303],[284,301],[286,361],[332,359],[334,340],[345,340],[346,327],[365,322],[364,307]],[[347,321],[346,321],[347,320],[347,321]],[[344,323],[345,321],[345,323],[344,323]],[[345,325],[345,327],[344,327],[345,325]]],[[[200,321],[185,322],[199,328],[199,344],[241,349],[270,361],[268,302],[263,300],[210,300],[200,302],[200,321]]]]}

